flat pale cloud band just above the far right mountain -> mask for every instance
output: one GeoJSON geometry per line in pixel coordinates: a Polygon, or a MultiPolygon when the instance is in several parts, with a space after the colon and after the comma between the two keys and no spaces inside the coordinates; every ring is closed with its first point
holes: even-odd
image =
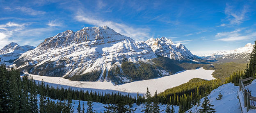
{"type": "Polygon", "coordinates": [[[252,38],[255,38],[256,33],[255,32],[242,32],[244,30],[244,28],[240,28],[240,29],[236,29],[235,31],[232,32],[221,32],[221,33],[217,33],[215,35],[217,39],[217,41],[244,41],[244,40],[249,40],[252,38]]]}

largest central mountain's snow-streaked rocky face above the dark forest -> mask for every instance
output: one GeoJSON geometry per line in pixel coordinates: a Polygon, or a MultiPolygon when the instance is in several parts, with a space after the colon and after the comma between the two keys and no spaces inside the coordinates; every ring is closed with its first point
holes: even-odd
{"type": "Polygon", "coordinates": [[[103,26],[85,27],[77,32],[66,30],[46,38],[14,63],[23,72],[34,75],[71,77],[96,72],[98,80],[104,81],[104,71],[121,67],[124,61],[150,63],[149,59],[156,57],[146,43],[103,26]]]}

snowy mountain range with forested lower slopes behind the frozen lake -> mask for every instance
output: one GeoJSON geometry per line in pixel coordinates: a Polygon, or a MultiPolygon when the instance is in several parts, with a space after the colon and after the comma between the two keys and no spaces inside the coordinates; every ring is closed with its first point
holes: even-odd
{"type": "MultiPolygon", "coordinates": [[[[107,26],[66,30],[37,47],[10,43],[0,55],[24,73],[113,84],[167,76],[207,63],[165,37],[137,42],[107,26]]],[[[203,56],[209,60],[214,55],[208,57],[203,56]]]]}

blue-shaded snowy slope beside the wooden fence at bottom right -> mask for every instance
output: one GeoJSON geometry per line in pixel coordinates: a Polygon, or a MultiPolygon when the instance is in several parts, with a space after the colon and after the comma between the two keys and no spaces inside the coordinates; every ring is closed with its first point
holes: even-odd
{"type": "MultiPolygon", "coordinates": [[[[246,88],[252,90],[252,96],[256,96],[256,80],[254,80],[249,86],[246,86],[246,88]]],[[[241,113],[239,99],[237,98],[238,92],[239,86],[234,86],[234,84],[228,83],[213,90],[210,95],[208,95],[208,99],[210,100],[210,104],[214,105],[213,108],[216,108],[216,113],[241,113]],[[216,100],[219,93],[223,95],[223,98],[216,100]]],[[[239,98],[241,101],[243,113],[256,113],[256,110],[254,109],[250,109],[248,112],[246,112],[242,92],[239,92],[239,98]]],[[[203,98],[201,99],[201,102],[203,102],[203,98]]],[[[194,106],[191,108],[191,110],[194,111],[195,107],[197,106],[194,106]]],[[[198,109],[201,109],[201,106],[199,106],[198,109]]]]}

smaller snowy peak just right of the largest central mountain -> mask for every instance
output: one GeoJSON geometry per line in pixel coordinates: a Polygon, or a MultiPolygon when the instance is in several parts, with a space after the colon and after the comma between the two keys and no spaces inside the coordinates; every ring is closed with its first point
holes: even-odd
{"type": "Polygon", "coordinates": [[[192,60],[199,59],[195,55],[193,55],[190,50],[188,50],[181,43],[174,44],[171,40],[162,37],[162,38],[150,38],[145,41],[147,45],[149,45],[155,54],[158,54],[162,57],[167,57],[175,60],[192,60]]]}

